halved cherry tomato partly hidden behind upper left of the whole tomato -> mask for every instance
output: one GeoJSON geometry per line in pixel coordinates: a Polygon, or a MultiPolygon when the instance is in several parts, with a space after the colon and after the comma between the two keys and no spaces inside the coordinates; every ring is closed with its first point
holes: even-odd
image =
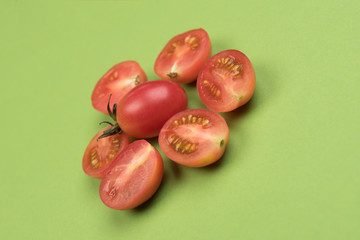
{"type": "Polygon", "coordinates": [[[116,103],[135,86],[146,81],[147,77],[137,62],[118,63],[97,82],[91,95],[92,105],[107,114],[106,105],[110,94],[112,104],[116,103]]]}

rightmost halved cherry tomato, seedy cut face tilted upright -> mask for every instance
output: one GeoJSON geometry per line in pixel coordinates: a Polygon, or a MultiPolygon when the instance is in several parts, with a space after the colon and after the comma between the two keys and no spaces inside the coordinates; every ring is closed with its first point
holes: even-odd
{"type": "Polygon", "coordinates": [[[212,56],[199,73],[197,90],[203,103],[216,112],[229,112],[245,103],[255,90],[255,72],[240,51],[212,56]]]}

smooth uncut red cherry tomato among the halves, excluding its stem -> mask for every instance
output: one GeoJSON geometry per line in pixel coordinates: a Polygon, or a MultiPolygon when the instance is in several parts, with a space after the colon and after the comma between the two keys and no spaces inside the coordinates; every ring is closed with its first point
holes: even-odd
{"type": "Polygon", "coordinates": [[[116,118],[120,128],[131,137],[155,137],[172,115],[187,108],[187,103],[185,90],[179,84],[149,81],[120,100],[116,118]]]}

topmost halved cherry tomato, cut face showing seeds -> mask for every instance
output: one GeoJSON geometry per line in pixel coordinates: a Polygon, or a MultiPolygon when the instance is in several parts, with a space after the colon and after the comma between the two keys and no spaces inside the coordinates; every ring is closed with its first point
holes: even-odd
{"type": "Polygon", "coordinates": [[[173,37],[160,52],[154,70],[163,79],[190,83],[211,55],[207,32],[194,29],[173,37]]]}

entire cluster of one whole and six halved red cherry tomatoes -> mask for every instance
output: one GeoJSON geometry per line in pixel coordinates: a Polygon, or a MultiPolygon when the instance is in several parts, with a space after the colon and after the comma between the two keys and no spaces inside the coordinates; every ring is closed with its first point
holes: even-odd
{"type": "Polygon", "coordinates": [[[114,122],[87,146],[82,166],[101,178],[100,197],[110,208],[131,209],[158,189],[164,171],[158,150],[148,141],[158,137],[162,152],[176,163],[203,167],[223,155],[229,128],[218,112],[232,111],[250,100],[255,73],[238,50],[211,56],[207,32],[195,29],[173,37],[155,61],[159,80],[147,81],[135,61],[113,66],[96,84],[93,107],[114,122]],[[197,81],[210,109],[187,109],[180,84],[197,81]]]}

